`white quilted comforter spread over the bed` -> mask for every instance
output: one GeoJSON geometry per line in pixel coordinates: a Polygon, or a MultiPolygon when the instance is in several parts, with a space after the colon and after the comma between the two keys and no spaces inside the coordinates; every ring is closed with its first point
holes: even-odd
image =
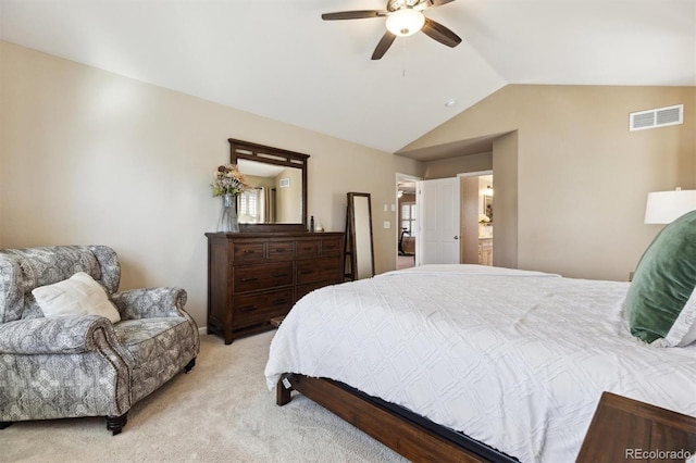
{"type": "Polygon", "coordinates": [[[521,461],[574,461],[605,390],[696,415],[696,345],[633,338],[627,287],[425,265],[322,288],[283,322],[266,383],[336,379],[521,461]]]}

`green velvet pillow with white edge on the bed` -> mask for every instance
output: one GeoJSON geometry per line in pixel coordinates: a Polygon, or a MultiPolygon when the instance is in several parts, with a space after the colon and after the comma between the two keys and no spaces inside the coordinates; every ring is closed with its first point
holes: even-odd
{"type": "Polygon", "coordinates": [[[666,226],[638,262],[625,299],[631,334],[657,347],[696,340],[696,211],[666,226]]]}

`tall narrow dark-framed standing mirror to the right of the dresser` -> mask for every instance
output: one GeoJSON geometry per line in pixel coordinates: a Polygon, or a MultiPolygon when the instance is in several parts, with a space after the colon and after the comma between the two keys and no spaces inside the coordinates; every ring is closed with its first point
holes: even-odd
{"type": "Polygon", "coordinates": [[[370,193],[348,193],[346,225],[350,255],[349,276],[351,279],[372,278],[374,276],[374,245],[370,193]]]}

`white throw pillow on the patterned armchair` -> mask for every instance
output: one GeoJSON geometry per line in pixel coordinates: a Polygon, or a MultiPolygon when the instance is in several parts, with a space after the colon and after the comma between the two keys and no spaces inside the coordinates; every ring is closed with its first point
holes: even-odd
{"type": "Polygon", "coordinates": [[[32,290],[32,295],[46,317],[101,315],[111,323],[121,320],[104,288],[85,272],[53,285],[39,286],[32,290]]]}

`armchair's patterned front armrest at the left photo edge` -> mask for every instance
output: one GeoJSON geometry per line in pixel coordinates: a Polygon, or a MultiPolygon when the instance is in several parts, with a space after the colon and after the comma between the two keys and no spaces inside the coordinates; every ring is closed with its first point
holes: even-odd
{"type": "Polygon", "coordinates": [[[80,353],[98,349],[104,337],[116,343],[113,326],[103,316],[17,320],[0,324],[0,354],[80,353]]]}

